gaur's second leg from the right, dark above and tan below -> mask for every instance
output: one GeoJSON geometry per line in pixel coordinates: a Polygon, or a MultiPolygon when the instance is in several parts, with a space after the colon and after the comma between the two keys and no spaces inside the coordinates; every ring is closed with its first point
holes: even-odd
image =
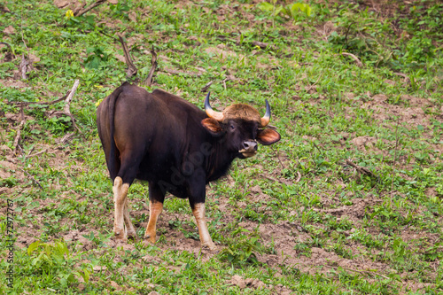
{"type": "Polygon", "coordinates": [[[149,238],[151,243],[156,241],[156,228],[159,214],[163,211],[165,193],[155,184],[149,183],[149,221],[144,232],[144,238],[149,238]]]}

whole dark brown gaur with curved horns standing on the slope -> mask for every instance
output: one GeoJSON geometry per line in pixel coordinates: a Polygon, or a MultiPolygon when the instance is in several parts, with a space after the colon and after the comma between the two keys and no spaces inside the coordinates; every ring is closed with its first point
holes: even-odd
{"type": "Polygon", "coordinates": [[[257,142],[274,144],[280,135],[265,128],[270,107],[260,113],[250,105],[229,105],[206,112],[180,97],[123,83],[97,109],[98,135],[113,181],[117,239],[136,237],[128,213],[128,188],[135,179],[149,182],[150,216],[145,238],[156,240],[156,224],[167,192],[189,198],[202,246],[213,250],[205,219],[206,183],[226,175],[236,158],[252,157],[257,142]]]}

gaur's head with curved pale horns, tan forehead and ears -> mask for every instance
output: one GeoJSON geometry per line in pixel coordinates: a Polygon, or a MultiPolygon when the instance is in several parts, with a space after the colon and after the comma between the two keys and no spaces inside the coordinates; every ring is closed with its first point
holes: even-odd
{"type": "Polygon", "coordinates": [[[245,159],[257,153],[257,142],[264,145],[275,144],[280,134],[265,128],[271,118],[271,109],[266,100],[266,113],[260,113],[251,105],[229,105],[223,112],[216,112],[209,105],[209,93],[205,99],[205,111],[209,118],[202,125],[214,136],[225,136],[228,151],[237,153],[236,157],[245,159]]]}

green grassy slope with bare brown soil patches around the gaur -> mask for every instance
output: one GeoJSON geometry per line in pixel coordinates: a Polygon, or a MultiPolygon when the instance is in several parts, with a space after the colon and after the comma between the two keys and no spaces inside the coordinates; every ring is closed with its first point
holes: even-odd
{"type": "MultiPolygon", "coordinates": [[[[443,4],[113,0],[73,16],[80,7],[0,4],[1,294],[443,293],[443,4]],[[113,239],[95,120],[127,80],[117,34],[130,82],[143,85],[153,48],[148,90],[201,108],[207,90],[218,110],[271,105],[282,140],[206,188],[218,252],[200,251],[187,200],[171,196],[155,245],[113,239]],[[42,104],[76,79],[77,128],[63,100],[42,104]]],[[[146,183],[129,202],[142,238],[146,183]]]]}

